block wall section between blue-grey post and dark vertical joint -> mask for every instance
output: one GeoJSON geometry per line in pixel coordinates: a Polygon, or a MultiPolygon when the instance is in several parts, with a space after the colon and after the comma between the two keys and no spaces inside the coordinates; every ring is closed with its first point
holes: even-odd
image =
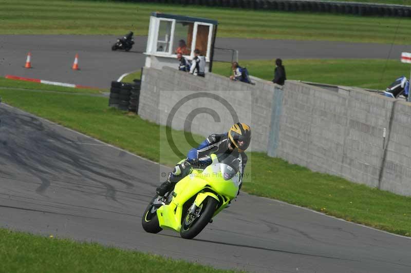
{"type": "Polygon", "coordinates": [[[275,155],[378,187],[393,104],[363,90],[344,95],[288,81],[275,155]]]}

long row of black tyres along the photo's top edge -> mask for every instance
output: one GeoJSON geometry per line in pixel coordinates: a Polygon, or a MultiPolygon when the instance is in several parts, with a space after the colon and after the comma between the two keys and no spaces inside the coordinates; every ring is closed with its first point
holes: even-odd
{"type": "MultiPolygon", "coordinates": [[[[128,0],[128,2],[150,2],[128,0]]],[[[411,6],[365,3],[342,3],[307,0],[154,0],[160,4],[202,5],[209,7],[279,10],[290,12],[328,12],[359,16],[411,17],[411,6]]]]}

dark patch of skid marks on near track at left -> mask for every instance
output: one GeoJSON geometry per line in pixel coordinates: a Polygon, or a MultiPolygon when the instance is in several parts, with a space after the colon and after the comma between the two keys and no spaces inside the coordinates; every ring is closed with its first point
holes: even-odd
{"type": "MultiPolygon", "coordinates": [[[[0,114],[5,113],[0,109],[0,114]]],[[[7,113],[7,112],[6,112],[7,113]]],[[[35,190],[39,194],[44,194],[50,186],[50,181],[46,174],[53,173],[78,173],[81,177],[96,182],[106,188],[106,197],[116,200],[116,188],[104,183],[102,180],[112,180],[123,184],[126,188],[133,188],[134,185],[124,178],[132,179],[125,173],[103,166],[94,160],[92,153],[82,152],[81,145],[73,143],[72,140],[65,138],[54,130],[47,128],[44,124],[29,114],[7,115],[2,131],[6,131],[7,141],[6,150],[8,154],[0,151],[0,157],[4,161],[12,161],[17,165],[23,166],[27,172],[41,181],[41,185],[35,190]],[[10,130],[8,128],[13,128],[10,130]],[[18,143],[18,137],[26,135],[24,143],[18,143]],[[51,139],[54,142],[45,143],[44,139],[51,139]],[[31,142],[31,145],[27,145],[31,142]],[[88,157],[87,157],[88,156],[88,157]],[[41,166],[41,167],[40,167],[41,166]],[[74,171],[73,171],[74,170],[74,171]],[[88,175],[86,172],[91,173],[88,175]],[[115,177],[117,174],[119,177],[115,177]],[[103,179],[97,179],[101,177],[103,179]]]]}

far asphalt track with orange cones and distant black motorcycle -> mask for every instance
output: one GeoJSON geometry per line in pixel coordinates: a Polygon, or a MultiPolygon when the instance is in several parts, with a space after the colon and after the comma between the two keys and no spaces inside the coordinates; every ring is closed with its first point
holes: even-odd
{"type": "MultiPolygon", "coordinates": [[[[111,51],[117,36],[107,35],[0,35],[0,76],[35,79],[108,88],[126,72],[144,66],[146,37],[135,37],[130,52],[111,51]],[[32,53],[32,69],[25,69],[32,53]],[[71,70],[79,53],[80,71],[71,70]]],[[[254,59],[399,59],[409,46],[326,41],[256,40],[217,38],[216,47],[239,51],[240,60],[254,59]]],[[[231,61],[229,51],[216,50],[215,60],[231,61]]],[[[177,63],[177,61],[176,61],[177,63]]]]}

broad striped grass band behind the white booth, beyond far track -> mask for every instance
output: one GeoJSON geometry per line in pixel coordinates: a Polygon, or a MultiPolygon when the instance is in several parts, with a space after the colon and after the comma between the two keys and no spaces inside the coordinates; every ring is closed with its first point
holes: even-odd
{"type": "Polygon", "coordinates": [[[409,18],[109,1],[0,0],[0,6],[1,34],[124,35],[133,30],[147,35],[150,13],[161,11],[217,19],[219,37],[411,43],[409,18]]]}

